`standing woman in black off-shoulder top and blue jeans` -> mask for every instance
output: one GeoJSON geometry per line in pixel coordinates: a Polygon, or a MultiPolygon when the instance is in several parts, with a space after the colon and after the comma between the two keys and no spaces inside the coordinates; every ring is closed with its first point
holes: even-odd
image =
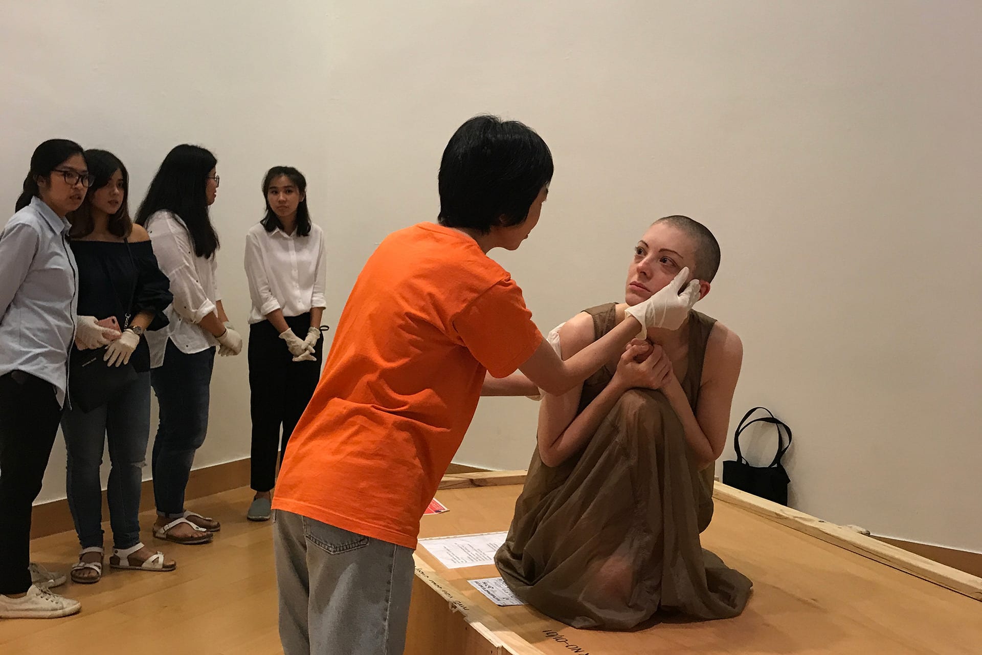
{"type": "MultiPolygon", "coordinates": [[[[94,181],[82,206],[69,214],[72,250],[79,263],[79,310],[115,319],[123,329],[103,355],[103,370],[105,366],[130,366],[134,372],[132,381],[120,383],[91,403],[99,403],[96,407],[84,407],[80,398],[62,416],[68,449],[68,505],[82,546],[71,573],[72,580],[80,584],[97,582],[102,576],[99,465],[107,440],[114,545],[110,566],[139,571],[174,571],[177,567],[139,540],[140,483],[150,436],[150,353],[143,333],[167,325],[163,312],[171,303],[170,283],[157,267],[146,230],[130,220],[126,166],[105,150],[86,150],[85,161],[94,181]]],[[[76,370],[74,362],[71,370],[76,370]]]]}

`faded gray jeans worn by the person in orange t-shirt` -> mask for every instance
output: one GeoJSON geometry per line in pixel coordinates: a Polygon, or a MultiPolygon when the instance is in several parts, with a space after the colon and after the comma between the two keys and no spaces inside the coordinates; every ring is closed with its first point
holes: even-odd
{"type": "Polygon", "coordinates": [[[285,655],[402,655],[412,551],[319,520],[273,517],[285,655]]]}

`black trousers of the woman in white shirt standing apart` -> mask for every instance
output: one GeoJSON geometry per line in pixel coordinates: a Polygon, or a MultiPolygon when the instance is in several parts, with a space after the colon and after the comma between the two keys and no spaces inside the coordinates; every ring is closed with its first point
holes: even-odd
{"type": "MultiPolygon", "coordinates": [[[[287,316],[287,325],[304,339],[310,314],[287,316]]],[[[300,414],[317,388],[324,341],[317,342],[316,361],[293,361],[287,342],[269,321],[249,327],[248,386],[252,414],[252,461],[250,486],[269,491],[276,481],[277,456],[286,451],[300,414]],[[282,429],[282,436],[281,436],[282,429]]]]}

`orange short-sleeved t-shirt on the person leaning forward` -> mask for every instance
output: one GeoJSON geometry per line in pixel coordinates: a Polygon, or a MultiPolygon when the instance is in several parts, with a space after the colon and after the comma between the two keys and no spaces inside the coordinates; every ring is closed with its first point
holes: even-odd
{"type": "Polygon", "coordinates": [[[431,223],[390,235],[341,314],[273,507],[415,548],[485,370],[514,373],[541,341],[518,285],[472,239],[431,223]]]}

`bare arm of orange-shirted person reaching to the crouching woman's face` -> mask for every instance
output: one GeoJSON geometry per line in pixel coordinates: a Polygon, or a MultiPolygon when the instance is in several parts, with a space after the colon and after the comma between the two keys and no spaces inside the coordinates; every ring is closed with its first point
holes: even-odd
{"type": "MultiPolygon", "coordinates": [[[[518,368],[532,384],[547,394],[566,394],[579,387],[583,380],[598,371],[606,362],[624,353],[627,344],[637,335],[640,325],[636,318],[627,316],[613,330],[569,356],[565,361],[556,355],[553,347],[543,339],[538,350],[518,368]]],[[[592,326],[590,333],[592,337],[592,326]]],[[[562,334],[561,330],[561,338],[562,334]]],[[[566,351],[564,350],[563,353],[565,355],[566,351]]]]}

